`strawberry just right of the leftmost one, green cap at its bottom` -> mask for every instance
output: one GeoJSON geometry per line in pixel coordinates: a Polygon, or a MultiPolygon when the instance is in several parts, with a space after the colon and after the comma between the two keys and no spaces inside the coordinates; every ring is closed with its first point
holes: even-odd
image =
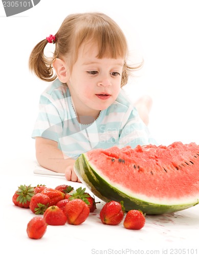
{"type": "Polygon", "coordinates": [[[37,193],[30,200],[30,209],[34,214],[44,214],[49,207],[50,197],[37,193]]]}

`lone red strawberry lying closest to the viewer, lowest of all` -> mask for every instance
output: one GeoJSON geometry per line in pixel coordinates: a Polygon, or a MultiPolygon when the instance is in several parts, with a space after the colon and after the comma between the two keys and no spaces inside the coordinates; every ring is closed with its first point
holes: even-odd
{"type": "Polygon", "coordinates": [[[47,223],[41,217],[32,218],[27,225],[27,234],[29,238],[40,239],[46,233],[47,223]]]}

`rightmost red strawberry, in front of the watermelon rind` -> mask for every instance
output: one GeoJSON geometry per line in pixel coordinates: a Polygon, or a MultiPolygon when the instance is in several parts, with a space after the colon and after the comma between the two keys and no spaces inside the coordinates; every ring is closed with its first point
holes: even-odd
{"type": "Polygon", "coordinates": [[[127,229],[141,229],[145,224],[145,216],[140,210],[129,210],[124,219],[124,227],[127,229]]]}

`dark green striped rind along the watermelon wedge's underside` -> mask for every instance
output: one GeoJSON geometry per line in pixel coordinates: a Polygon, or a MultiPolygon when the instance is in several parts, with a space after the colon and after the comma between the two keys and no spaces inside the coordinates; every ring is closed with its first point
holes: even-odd
{"type": "Polygon", "coordinates": [[[75,161],[75,172],[79,179],[85,183],[92,193],[104,202],[111,200],[123,201],[125,210],[139,209],[145,214],[160,215],[190,208],[199,203],[198,200],[190,203],[165,205],[146,202],[141,199],[131,197],[119,190],[117,187],[105,181],[90,164],[86,154],[82,154],[75,161]]]}

